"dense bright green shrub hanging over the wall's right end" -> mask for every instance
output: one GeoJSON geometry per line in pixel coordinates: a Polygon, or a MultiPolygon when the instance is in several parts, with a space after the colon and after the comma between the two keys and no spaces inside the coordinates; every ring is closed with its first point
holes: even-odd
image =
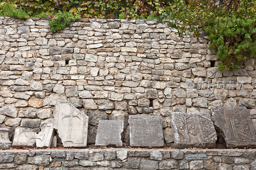
{"type": "Polygon", "coordinates": [[[249,18],[220,17],[204,28],[211,49],[218,50],[220,70],[234,70],[238,63],[256,55],[256,26],[249,18]]]}

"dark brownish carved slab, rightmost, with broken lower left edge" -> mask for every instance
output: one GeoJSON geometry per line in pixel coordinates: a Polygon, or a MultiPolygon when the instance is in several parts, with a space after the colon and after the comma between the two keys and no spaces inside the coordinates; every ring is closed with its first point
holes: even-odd
{"type": "Polygon", "coordinates": [[[256,147],[255,128],[246,107],[214,107],[212,119],[227,147],[256,147]]]}

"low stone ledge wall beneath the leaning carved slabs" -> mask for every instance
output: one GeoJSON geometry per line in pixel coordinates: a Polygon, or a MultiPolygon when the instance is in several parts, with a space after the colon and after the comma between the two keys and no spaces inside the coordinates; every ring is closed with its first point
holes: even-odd
{"type": "Polygon", "coordinates": [[[255,170],[255,149],[55,149],[0,151],[5,170],[255,170]]]}

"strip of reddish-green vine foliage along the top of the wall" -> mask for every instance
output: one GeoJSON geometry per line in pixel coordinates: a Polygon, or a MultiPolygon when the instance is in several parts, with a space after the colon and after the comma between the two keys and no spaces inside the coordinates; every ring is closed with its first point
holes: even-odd
{"type": "Polygon", "coordinates": [[[81,18],[146,19],[160,16],[172,0],[4,0],[12,2],[31,17],[42,12],[71,11],[81,18]]]}

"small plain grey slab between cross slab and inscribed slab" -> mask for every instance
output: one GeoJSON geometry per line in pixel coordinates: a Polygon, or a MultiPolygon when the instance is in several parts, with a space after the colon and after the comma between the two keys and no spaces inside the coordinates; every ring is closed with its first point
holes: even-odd
{"type": "Polygon", "coordinates": [[[121,147],[121,134],[124,131],[124,121],[100,120],[96,135],[95,146],[121,147]]]}

